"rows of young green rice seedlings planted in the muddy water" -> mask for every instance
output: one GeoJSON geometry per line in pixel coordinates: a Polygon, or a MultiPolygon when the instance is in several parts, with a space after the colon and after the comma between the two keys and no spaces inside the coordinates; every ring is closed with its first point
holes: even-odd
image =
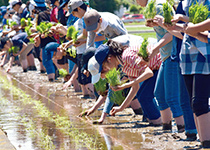
{"type": "MultiPolygon", "coordinates": [[[[43,118],[45,121],[50,121],[51,123],[54,123],[56,128],[60,130],[64,135],[70,136],[70,138],[76,145],[76,149],[81,149],[81,147],[86,147],[87,149],[91,150],[101,149],[100,143],[97,143],[99,146],[96,146],[96,142],[98,139],[97,136],[90,136],[83,130],[75,128],[73,122],[70,121],[67,114],[63,116],[60,116],[57,113],[54,114],[41,101],[31,98],[30,95],[26,94],[21,89],[15,87],[6,78],[3,78],[1,76],[0,83],[2,84],[1,87],[5,90],[11,91],[11,94],[13,94],[13,96],[18,96],[19,101],[22,102],[24,105],[30,104],[31,108],[35,110],[36,114],[40,116],[40,118],[43,118]]],[[[43,130],[37,129],[36,126],[34,126],[34,124],[31,124],[33,123],[32,120],[30,121],[30,119],[26,119],[25,123],[25,127],[28,127],[27,130],[32,135],[38,137],[38,139],[42,139],[38,141],[39,147],[46,150],[54,149],[51,142],[51,137],[49,137],[43,130]]]]}

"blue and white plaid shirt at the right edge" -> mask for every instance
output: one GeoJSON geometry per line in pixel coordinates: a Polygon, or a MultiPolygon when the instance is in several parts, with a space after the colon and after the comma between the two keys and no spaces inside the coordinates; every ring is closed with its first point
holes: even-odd
{"type": "MultiPolygon", "coordinates": [[[[190,0],[187,3],[184,7],[186,14],[189,6],[195,2],[190,0]]],[[[210,6],[210,0],[204,2],[205,5],[210,6]]],[[[210,43],[201,42],[185,34],[180,53],[180,67],[182,74],[210,74],[210,43]]]]}

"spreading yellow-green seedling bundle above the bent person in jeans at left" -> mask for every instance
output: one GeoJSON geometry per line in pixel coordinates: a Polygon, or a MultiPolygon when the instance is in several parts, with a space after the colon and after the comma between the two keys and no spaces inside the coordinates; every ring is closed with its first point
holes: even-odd
{"type": "Polygon", "coordinates": [[[50,33],[50,28],[53,26],[51,22],[41,22],[40,25],[36,26],[36,30],[40,34],[44,34],[45,37],[50,33]]]}

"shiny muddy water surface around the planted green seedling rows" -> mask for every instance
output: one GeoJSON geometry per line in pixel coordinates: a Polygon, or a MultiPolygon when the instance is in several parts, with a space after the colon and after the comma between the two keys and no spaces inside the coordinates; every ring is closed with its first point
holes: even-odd
{"type": "MultiPolygon", "coordinates": [[[[62,91],[61,87],[59,87],[61,83],[40,82],[36,79],[29,81],[22,74],[16,75],[14,78],[7,76],[7,78],[13,85],[31,95],[33,99],[41,101],[54,114],[62,116],[65,110],[76,129],[84,131],[90,136],[94,135],[98,137],[97,144],[101,145],[100,149],[140,149],[142,141],[145,141],[143,134],[136,132],[135,128],[126,129],[126,124],[133,123],[132,121],[128,122],[128,120],[124,119],[113,120],[113,117],[107,117],[104,125],[93,126],[91,120],[98,119],[102,112],[101,110],[91,115],[91,117],[78,118],[78,114],[84,109],[84,103],[93,103],[94,100],[85,100],[83,103],[78,98],[81,93],[75,93],[72,90],[62,91]],[[125,124],[125,127],[116,127],[121,124],[125,124]]],[[[35,76],[31,78],[35,78],[35,76]]],[[[30,131],[18,119],[18,117],[25,115],[32,118],[34,125],[38,129],[42,129],[45,133],[47,132],[52,138],[55,149],[77,149],[71,138],[62,134],[55,124],[38,116],[31,108],[31,105],[23,105],[19,102],[17,96],[12,95],[2,87],[0,92],[1,96],[5,98],[0,105],[0,125],[7,132],[8,138],[17,150],[40,149],[37,143],[39,137],[31,137],[29,135],[30,131]]],[[[88,148],[82,147],[80,149],[88,148]]]]}

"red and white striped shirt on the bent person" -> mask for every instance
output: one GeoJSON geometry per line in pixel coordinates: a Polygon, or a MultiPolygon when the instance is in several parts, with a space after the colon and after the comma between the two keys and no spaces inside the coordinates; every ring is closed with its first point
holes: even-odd
{"type": "MultiPolygon", "coordinates": [[[[141,61],[141,57],[137,55],[138,50],[141,45],[131,46],[124,50],[122,54],[123,68],[122,71],[126,73],[129,77],[138,77],[140,76],[147,65],[141,65],[139,62],[141,61]]],[[[151,46],[148,47],[148,50],[151,50],[151,46]]],[[[149,61],[149,68],[151,70],[158,70],[161,64],[160,53],[158,53],[155,57],[153,57],[149,61]]]]}

